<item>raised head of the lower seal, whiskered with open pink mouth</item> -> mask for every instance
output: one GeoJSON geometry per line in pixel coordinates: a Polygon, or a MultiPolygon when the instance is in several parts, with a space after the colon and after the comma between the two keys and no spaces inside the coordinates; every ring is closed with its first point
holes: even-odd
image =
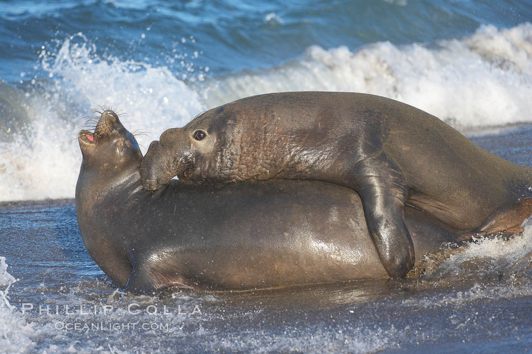
{"type": "Polygon", "coordinates": [[[118,172],[124,167],[138,168],[142,161],[137,140],[112,110],[101,113],[94,133],[81,130],[78,141],[83,155],[82,163],[99,170],[118,172]]]}

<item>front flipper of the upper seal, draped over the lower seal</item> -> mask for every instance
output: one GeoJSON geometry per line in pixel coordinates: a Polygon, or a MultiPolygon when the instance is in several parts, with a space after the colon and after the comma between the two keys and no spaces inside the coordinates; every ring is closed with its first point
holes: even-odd
{"type": "Polygon", "coordinates": [[[361,161],[356,190],[369,234],[388,275],[400,278],[414,266],[414,244],[404,223],[408,190],[403,174],[386,159],[361,161]],[[360,173],[362,172],[362,173],[360,173]]]}

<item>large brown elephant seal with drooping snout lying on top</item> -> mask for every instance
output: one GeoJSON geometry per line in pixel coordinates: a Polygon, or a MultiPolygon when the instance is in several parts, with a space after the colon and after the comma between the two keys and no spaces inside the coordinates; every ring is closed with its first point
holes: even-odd
{"type": "Polygon", "coordinates": [[[149,146],[145,188],[176,175],[190,184],[277,178],[352,188],[392,277],[414,264],[405,204],[479,233],[510,232],[532,212],[529,201],[519,202],[531,195],[529,167],[408,104],[359,93],[273,93],[207,111],[149,146]]]}

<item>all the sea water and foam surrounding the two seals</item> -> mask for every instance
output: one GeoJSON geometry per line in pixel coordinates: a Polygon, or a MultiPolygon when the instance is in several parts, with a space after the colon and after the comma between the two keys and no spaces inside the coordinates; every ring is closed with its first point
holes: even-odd
{"type": "Polygon", "coordinates": [[[201,111],[288,90],[394,98],[531,166],[532,2],[0,2],[0,352],[530,351],[529,225],[429,261],[419,282],[115,292],[81,242],[72,201],[58,200],[74,196],[87,109],[123,110],[129,130],[148,133],[145,152],[201,111]],[[23,314],[25,302],[77,309],[23,314]],[[131,303],[202,315],[132,316],[131,303]],[[87,317],[81,305],[114,310],[87,317]],[[170,328],[57,327],[88,320],[170,328]]]}

